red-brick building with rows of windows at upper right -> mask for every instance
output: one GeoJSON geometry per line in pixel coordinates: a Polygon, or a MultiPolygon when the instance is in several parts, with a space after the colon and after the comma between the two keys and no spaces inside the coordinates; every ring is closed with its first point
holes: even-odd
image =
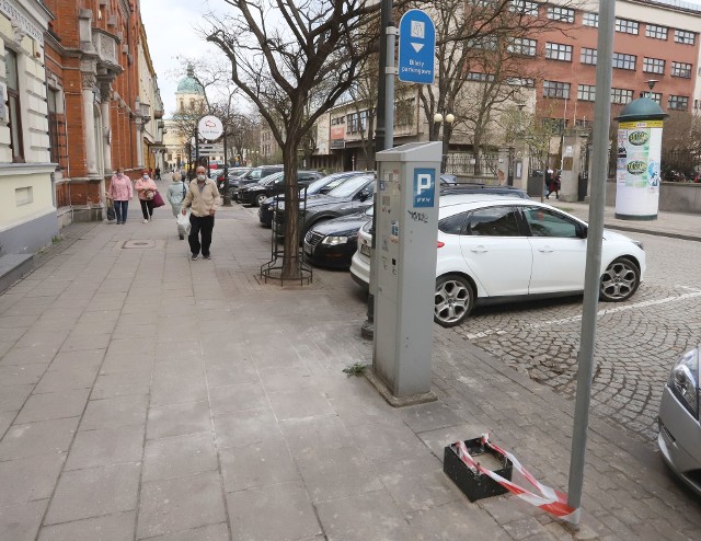
{"type": "MultiPolygon", "coordinates": [[[[525,65],[538,73],[532,79],[537,111],[554,124],[588,126],[596,99],[598,2],[565,7],[517,0],[513,5],[559,26],[514,44],[525,65]]],[[[648,91],[650,80],[656,80],[652,96],[665,111],[698,111],[700,30],[701,5],[677,0],[617,1],[612,116],[648,91]]]]}

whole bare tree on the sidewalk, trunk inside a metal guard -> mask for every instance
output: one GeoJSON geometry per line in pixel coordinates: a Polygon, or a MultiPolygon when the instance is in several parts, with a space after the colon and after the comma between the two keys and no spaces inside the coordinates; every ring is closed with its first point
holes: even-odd
{"type": "Polygon", "coordinates": [[[231,15],[209,19],[207,39],[228,57],[231,81],[257,106],[283,149],[286,172],[283,279],[300,274],[297,149],[377,47],[358,39],[379,13],[363,0],[226,0],[231,15]],[[325,89],[306,114],[314,89],[325,89]]]}

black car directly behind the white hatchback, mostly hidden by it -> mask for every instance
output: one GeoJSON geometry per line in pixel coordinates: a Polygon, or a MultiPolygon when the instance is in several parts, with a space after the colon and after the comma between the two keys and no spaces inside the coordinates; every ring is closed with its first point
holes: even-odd
{"type": "MultiPolygon", "coordinates": [[[[510,186],[455,183],[455,175],[440,175],[440,196],[453,193],[497,194],[528,199],[522,189],[510,186]],[[452,177],[452,179],[450,179],[452,177]]],[[[372,206],[366,210],[312,226],[304,235],[304,255],[313,265],[331,268],[349,268],[357,250],[358,231],[372,220],[372,206]]]]}

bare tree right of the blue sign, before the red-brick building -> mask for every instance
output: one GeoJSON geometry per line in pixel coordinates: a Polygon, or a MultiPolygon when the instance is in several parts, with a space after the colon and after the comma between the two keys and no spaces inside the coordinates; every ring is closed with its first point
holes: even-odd
{"type": "MultiPolygon", "coordinates": [[[[430,140],[437,140],[440,130],[440,125],[432,122],[434,115],[458,113],[455,127],[463,124],[473,133],[476,152],[495,110],[515,97],[518,100],[521,91],[518,80],[536,77],[521,61],[524,56],[531,56],[530,50],[524,49],[522,39],[543,32],[565,33],[566,25],[537,16],[537,11],[536,14],[530,11],[533,9],[530,3],[435,0],[432,18],[436,25],[437,78],[434,85],[421,85],[418,90],[429,120],[430,140]],[[466,90],[471,77],[478,84],[470,84],[471,89],[466,90]]],[[[451,131],[446,133],[447,142],[451,131]]]]}

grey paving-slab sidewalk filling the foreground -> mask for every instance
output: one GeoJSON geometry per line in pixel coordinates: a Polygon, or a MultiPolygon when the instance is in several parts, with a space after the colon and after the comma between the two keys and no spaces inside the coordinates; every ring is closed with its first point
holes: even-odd
{"type": "MultiPolygon", "coordinates": [[[[566,490],[572,403],[436,327],[438,402],[394,410],[342,372],[371,361],[347,273],[262,284],[254,209],[222,209],[196,262],[170,209],[131,214],[70,226],[0,296],[0,539],[572,538],[441,471],[489,430],[566,490]]],[[[593,418],[587,458],[579,538],[698,537],[654,449],[593,418]]]]}

